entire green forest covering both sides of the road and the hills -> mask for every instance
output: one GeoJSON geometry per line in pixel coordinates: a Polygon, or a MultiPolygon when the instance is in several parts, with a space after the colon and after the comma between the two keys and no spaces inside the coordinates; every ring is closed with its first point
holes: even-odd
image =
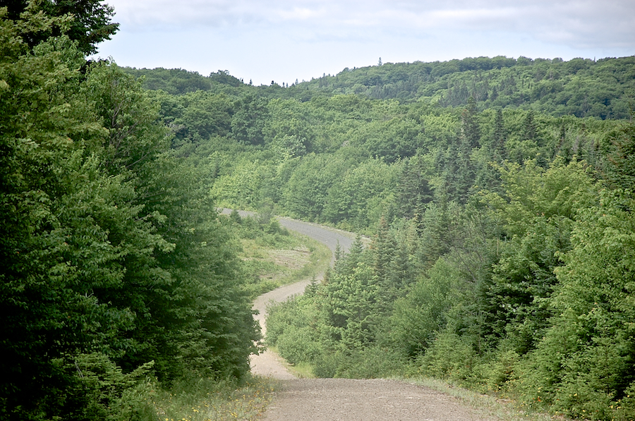
{"type": "Polygon", "coordinates": [[[270,310],[291,364],[635,418],[635,57],[254,86],[87,61],[117,28],[77,12],[0,8],[2,418],[157,420],[157,391],[248,382],[272,286],[239,238],[290,240],[218,207],[373,238],[270,310]]]}

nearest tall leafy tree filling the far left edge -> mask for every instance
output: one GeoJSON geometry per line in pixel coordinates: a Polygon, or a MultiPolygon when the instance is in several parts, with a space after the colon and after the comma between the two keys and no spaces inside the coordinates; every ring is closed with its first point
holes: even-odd
{"type": "MultiPolygon", "coordinates": [[[[95,419],[119,408],[92,400],[101,386],[85,383],[77,364],[132,346],[119,335],[134,315],[95,291],[121,287],[127,255],[170,247],[131,205],[133,185],[102,172],[107,130],[80,93],[75,43],[59,37],[31,49],[23,38],[54,24],[63,22],[31,9],[0,20],[0,413],[9,420],[95,419]]],[[[114,384],[119,397],[124,383],[114,384]]]]}

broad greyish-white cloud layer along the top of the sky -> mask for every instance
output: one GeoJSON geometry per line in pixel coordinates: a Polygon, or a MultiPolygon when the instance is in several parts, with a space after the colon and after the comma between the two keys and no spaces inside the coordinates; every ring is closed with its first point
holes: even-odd
{"type": "Polygon", "coordinates": [[[401,30],[510,30],[571,46],[635,44],[635,7],[629,0],[419,1],[419,0],[109,0],[122,30],[180,30],[258,25],[305,32],[334,28],[355,35],[364,28],[401,30]],[[282,25],[282,27],[281,27],[282,25]]]}

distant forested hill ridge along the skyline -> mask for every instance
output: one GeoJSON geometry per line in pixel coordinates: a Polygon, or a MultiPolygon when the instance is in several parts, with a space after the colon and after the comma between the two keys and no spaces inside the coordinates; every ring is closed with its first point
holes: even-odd
{"type": "Polygon", "coordinates": [[[508,59],[497,56],[346,68],[308,82],[252,87],[226,71],[209,77],[181,69],[126,69],[145,76],[145,87],[170,94],[226,87],[255,89],[269,97],[306,101],[315,95],[362,94],[375,99],[424,100],[479,110],[532,109],[552,116],[627,118],[635,97],[635,56],[619,59],[508,59]]]}

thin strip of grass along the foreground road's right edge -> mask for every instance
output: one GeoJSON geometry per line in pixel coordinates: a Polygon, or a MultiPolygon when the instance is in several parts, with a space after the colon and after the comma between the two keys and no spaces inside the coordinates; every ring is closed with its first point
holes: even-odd
{"type": "Polygon", "coordinates": [[[428,387],[430,389],[440,391],[449,396],[454,396],[460,401],[470,406],[476,413],[483,418],[497,418],[502,421],[552,421],[555,418],[565,420],[562,416],[552,416],[546,413],[539,413],[530,408],[524,408],[520,403],[512,399],[497,398],[492,395],[485,395],[469,389],[454,386],[448,382],[439,379],[419,377],[404,378],[394,377],[395,380],[416,384],[418,386],[428,387]]]}

